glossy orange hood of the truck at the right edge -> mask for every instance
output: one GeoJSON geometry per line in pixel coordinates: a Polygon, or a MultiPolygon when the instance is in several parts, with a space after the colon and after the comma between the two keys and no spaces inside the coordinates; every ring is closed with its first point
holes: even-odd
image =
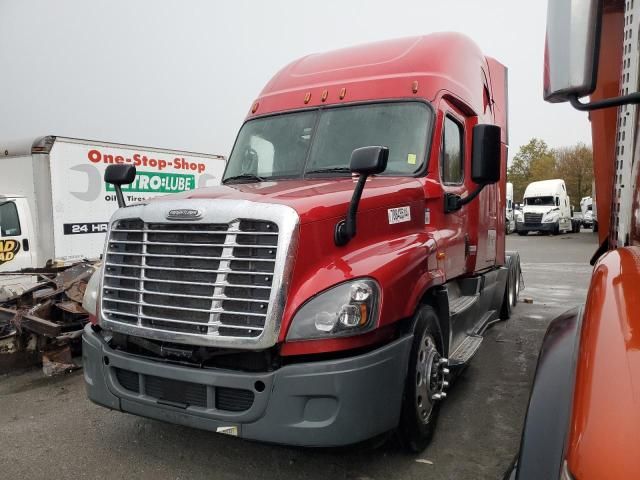
{"type": "Polygon", "coordinates": [[[567,456],[580,480],[640,478],[638,282],[638,247],[609,251],[591,277],[567,456]]]}

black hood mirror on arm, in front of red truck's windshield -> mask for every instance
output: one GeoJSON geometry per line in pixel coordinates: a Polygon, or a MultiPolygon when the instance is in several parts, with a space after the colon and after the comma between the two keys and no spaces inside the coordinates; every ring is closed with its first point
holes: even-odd
{"type": "Polygon", "coordinates": [[[371,146],[356,148],[351,153],[351,161],[349,168],[351,172],[360,174],[358,183],[351,196],[349,209],[347,210],[347,218],[336,224],[333,240],[337,246],[346,245],[356,236],[356,214],[358,212],[358,204],[364,184],[369,175],[382,173],[387,168],[389,160],[389,149],[387,147],[371,146]]]}

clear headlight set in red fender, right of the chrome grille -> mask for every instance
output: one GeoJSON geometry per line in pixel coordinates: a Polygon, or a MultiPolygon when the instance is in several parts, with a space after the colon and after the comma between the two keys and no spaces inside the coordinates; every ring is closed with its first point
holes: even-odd
{"type": "Polygon", "coordinates": [[[368,332],[378,321],[378,284],[341,283],[307,301],[293,317],[287,340],[344,337],[368,332]]]}

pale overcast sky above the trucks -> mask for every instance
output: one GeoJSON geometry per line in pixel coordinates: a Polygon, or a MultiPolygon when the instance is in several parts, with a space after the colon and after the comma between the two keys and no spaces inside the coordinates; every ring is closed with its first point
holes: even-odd
{"type": "Polygon", "coordinates": [[[227,155],[252,100],[297,57],[459,31],[509,68],[511,156],[590,143],[542,101],[546,1],[0,0],[0,143],[56,134],[227,155]]]}

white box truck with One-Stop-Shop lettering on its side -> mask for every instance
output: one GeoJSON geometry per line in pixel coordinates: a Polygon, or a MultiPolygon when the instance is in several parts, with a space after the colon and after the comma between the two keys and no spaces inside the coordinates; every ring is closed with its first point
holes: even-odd
{"type": "MultiPolygon", "coordinates": [[[[218,185],[221,155],[47,136],[0,144],[0,274],[98,258],[118,208],[110,164],[137,167],[128,202],[218,185]]],[[[0,275],[0,288],[27,283],[0,275]]]]}

